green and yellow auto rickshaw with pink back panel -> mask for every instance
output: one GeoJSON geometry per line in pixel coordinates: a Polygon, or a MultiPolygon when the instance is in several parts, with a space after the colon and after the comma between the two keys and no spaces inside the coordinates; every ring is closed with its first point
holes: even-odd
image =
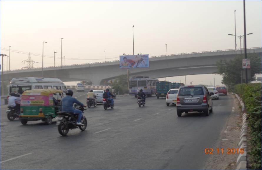
{"type": "Polygon", "coordinates": [[[21,97],[20,121],[45,121],[52,124],[52,119],[57,116],[61,108],[63,91],[56,89],[26,90],[21,97]]]}

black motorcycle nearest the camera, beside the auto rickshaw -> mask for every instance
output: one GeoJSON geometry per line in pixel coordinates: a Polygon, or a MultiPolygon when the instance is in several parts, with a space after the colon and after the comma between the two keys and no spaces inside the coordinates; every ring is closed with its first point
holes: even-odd
{"type": "MultiPolygon", "coordinates": [[[[84,107],[75,104],[74,105],[75,109],[79,109],[82,111],[82,113],[84,113],[84,107]]],[[[87,119],[85,118],[84,115],[82,115],[81,118],[81,123],[84,125],[77,125],[77,114],[72,114],[69,112],[65,112],[65,111],[59,111],[57,112],[57,114],[59,116],[57,116],[57,125],[58,125],[58,132],[59,134],[61,134],[62,136],[66,136],[69,129],[76,129],[79,128],[81,131],[84,131],[87,128],[87,119]]]]}

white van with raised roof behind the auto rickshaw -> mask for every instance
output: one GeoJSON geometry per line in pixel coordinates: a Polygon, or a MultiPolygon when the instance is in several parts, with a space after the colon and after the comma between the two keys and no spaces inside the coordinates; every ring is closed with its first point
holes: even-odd
{"type": "Polygon", "coordinates": [[[9,85],[9,94],[18,92],[22,94],[32,89],[57,89],[65,92],[67,90],[63,81],[56,78],[22,77],[13,78],[9,85]]]}

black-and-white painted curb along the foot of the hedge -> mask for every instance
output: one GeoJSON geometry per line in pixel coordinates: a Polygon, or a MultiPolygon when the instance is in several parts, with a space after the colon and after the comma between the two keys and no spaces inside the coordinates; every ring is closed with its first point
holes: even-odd
{"type": "Polygon", "coordinates": [[[247,124],[247,115],[245,112],[243,112],[245,110],[245,104],[243,103],[242,99],[235,94],[236,98],[238,99],[239,104],[241,105],[241,113],[242,113],[242,127],[241,127],[241,133],[240,133],[240,141],[238,143],[238,147],[239,150],[241,148],[244,148],[244,153],[243,154],[239,154],[238,158],[236,160],[236,169],[247,169],[247,160],[246,160],[246,156],[247,156],[247,128],[248,128],[248,124],[247,124]]]}

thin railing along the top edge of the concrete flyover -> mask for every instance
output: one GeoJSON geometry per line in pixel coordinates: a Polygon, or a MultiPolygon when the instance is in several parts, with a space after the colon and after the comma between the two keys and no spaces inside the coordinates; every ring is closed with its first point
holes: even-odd
{"type": "MultiPolygon", "coordinates": [[[[247,49],[259,49],[261,47],[251,47],[247,49]]],[[[242,48],[243,49],[243,48],[242,48]]],[[[237,49],[240,50],[240,49],[237,49]]],[[[244,50],[244,49],[243,49],[244,50]]],[[[169,55],[160,55],[160,56],[151,56],[149,58],[155,58],[155,57],[165,57],[165,56],[177,56],[177,55],[186,55],[186,54],[198,54],[198,53],[211,53],[211,52],[220,52],[220,51],[235,51],[235,49],[226,49],[226,50],[213,50],[213,51],[199,51],[199,52],[190,52],[190,53],[177,53],[177,54],[169,54],[169,55]]],[[[70,64],[65,65],[62,67],[67,66],[79,66],[79,65],[88,65],[88,64],[99,64],[99,63],[111,63],[119,60],[112,60],[112,61],[101,61],[101,62],[94,62],[94,63],[84,63],[84,64],[70,64]]],[[[62,68],[61,66],[55,66],[55,68],[62,68]]],[[[54,66],[44,67],[44,68],[54,68],[54,66]]],[[[34,69],[42,69],[42,67],[32,68],[32,69],[15,69],[10,71],[19,71],[19,70],[34,70],[34,69]]],[[[1,71],[2,72],[2,71],[1,71]]]]}

